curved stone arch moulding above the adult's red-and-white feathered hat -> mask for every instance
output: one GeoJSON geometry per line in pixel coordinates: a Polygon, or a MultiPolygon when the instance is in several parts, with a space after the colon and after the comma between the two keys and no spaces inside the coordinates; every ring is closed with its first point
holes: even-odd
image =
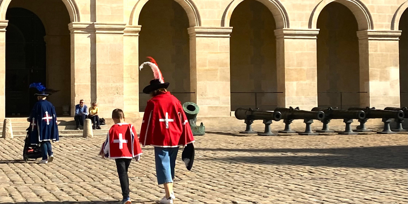
{"type": "MultiPolygon", "coordinates": [[[[140,12],[142,11],[142,8],[148,1],[149,0],[137,1],[135,7],[133,7],[132,9],[129,19],[129,25],[139,24],[140,12]]],[[[200,13],[198,12],[197,7],[195,6],[192,0],[174,0],[174,1],[180,4],[180,6],[183,7],[184,11],[186,11],[190,27],[201,26],[200,13]]]]}

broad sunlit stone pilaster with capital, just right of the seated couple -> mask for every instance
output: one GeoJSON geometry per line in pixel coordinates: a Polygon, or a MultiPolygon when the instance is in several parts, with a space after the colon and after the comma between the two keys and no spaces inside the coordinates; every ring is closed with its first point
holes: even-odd
{"type": "MultiPolygon", "coordinates": [[[[100,117],[124,108],[124,41],[126,24],[95,22],[96,100],[100,117]]],[[[92,76],[91,76],[92,77],[92,76]]]]}

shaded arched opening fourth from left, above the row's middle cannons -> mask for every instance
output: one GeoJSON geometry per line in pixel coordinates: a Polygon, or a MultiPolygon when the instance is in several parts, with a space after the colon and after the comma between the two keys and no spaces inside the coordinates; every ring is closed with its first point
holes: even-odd
{"type": "Polygon", "coordinates": [[[358,24],[343,4],[332,2],[319,14],[317,28],[318,106],[359,106],[358,24]]]}

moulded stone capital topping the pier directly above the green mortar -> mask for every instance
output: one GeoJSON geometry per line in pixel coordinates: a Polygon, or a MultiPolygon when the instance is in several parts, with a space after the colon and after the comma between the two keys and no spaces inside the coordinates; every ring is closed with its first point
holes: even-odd
{"type": "Polygon", "coordinates": [[[195,26],[188,28],[190,37],[197,38],[229,38],[232,27],[201,27],[195,26]]]}

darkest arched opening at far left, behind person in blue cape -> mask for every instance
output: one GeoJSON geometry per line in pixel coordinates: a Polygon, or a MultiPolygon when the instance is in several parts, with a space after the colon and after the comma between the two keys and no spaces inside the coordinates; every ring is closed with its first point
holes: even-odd
{"type": "Polygon", "coordinates": [[[28,88],[33,82],[60,90],[47,100],[61,115],[71,97],[71,21],[65,4],[13,0],[6,20],[6,117],[29,115],[36,102],[35,91],[28,88]]]}

